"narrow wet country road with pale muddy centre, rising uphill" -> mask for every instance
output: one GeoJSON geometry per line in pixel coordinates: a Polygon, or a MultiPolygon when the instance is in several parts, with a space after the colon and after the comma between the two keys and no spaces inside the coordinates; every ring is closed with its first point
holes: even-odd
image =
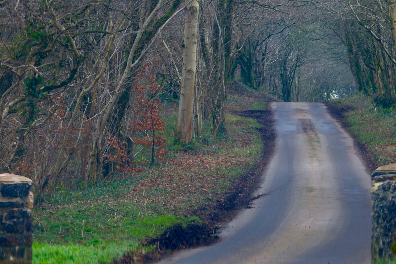
{"type": "Polygon", "coordinates": [[[172,264],[369,264],[370,177],[320,103],[272,103],[276,149],[253,208],[172,264]]]}

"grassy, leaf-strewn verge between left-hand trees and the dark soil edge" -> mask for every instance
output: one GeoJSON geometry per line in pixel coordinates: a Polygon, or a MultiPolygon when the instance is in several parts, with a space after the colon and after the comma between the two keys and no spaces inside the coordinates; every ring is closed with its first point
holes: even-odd
{"type": "Polygon", "coordinates": [[[144,171],[123,170],[95,185],[58,188],[34,208],[33,263],[111,263],[125,252],[150,252],[145,241],[170,226],[202,224],[232,184],[261,158],[261,125],[232,115],[267,102],[229,95],[216,140],[209,120],[187,146],[174,141],[177,105],[163,107],[168,154],[144,171]]]}

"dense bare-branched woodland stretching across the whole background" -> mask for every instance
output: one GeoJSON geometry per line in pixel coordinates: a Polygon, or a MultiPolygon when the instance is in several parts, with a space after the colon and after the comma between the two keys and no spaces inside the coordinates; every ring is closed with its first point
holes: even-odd
{"type": "Polygon", "coordinates": [[[139,173],[223,129],[235,82],[396,102],[395,0],[0,0],[0,167],[36,192],[139,173]]]}

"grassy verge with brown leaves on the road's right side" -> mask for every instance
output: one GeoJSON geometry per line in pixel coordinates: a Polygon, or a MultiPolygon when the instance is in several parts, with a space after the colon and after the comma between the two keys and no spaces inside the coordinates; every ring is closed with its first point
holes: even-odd
{"type": "Polygon", "coordinates": [[[396,163],[396,110],[382,109],[371,97],[359,94],[332,100],[335,109],[345,110],[343,122],[366,145],[378,166],[396,163]]]}

